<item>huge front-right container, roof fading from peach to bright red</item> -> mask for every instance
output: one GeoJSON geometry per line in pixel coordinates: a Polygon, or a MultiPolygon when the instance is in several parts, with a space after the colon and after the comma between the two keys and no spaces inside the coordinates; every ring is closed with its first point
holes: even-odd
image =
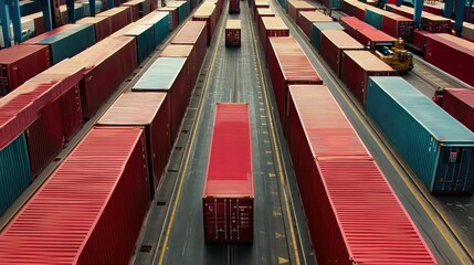
{"type": "Polygon", "coordinates": [[[291,86],[288,106],[286,138],[317,262],[438,264],[328,88],[291,86]]]}

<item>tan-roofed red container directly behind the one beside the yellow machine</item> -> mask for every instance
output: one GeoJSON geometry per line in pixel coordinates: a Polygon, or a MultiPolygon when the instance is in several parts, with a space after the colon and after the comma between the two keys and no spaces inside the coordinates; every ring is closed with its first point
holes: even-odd
{"type": "Polygon", "coordinates": [[[364,50],[364,45],[344,31],[322,31],[320,54],[339,77],[343,51],[346,50],[364,50]]]}

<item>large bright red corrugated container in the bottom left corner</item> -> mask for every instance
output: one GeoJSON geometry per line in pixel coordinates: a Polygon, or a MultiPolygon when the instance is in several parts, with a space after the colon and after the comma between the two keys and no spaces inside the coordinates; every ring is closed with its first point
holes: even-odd
{"type": "Polygon", "coordinates": [[[2,232],[0,263],[128,264],[147,170],[141,129],[92,129],[2,232]]]}

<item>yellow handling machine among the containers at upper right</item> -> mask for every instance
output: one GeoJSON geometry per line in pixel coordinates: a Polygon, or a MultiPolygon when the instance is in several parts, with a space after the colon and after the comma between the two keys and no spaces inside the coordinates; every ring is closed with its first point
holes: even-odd
{"type": "Polygon", "coordinates": [[[404,49],[404,41],[398,39],[394,43],[372,43],[370,51],[398,72],[413,68],[413,55],[404,49]]]}

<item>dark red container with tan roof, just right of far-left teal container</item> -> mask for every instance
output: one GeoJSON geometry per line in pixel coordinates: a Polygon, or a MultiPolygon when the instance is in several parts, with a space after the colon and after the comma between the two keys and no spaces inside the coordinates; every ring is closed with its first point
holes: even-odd
{"type": "Polygon", "coordinates": [[[72,59],[86,71],[80,83],[84,118],[91,118],[118,85],[137,68],[133,36],[114,36],[95,44],[72,59]]]}

